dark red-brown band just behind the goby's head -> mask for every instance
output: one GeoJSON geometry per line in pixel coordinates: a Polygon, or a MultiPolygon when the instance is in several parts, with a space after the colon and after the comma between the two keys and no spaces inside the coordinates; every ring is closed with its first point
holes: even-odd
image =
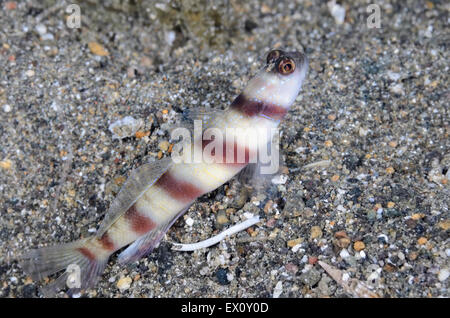
{"type": "Polygon", "coordinates": [[[281,120],[286,115],[284,107],[264,103],[262,101],[249,100],[244,94],[240,94],[231,104],[231,108],[241,112],[247,117],[264,116],[274,120],[281,120]]]}

